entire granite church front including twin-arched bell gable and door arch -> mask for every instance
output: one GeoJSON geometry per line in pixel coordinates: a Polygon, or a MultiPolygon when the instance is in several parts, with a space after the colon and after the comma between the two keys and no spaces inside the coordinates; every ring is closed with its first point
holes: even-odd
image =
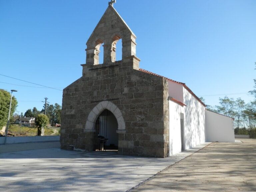
{"type": "Polygon", "coordinates": [[[109,5],[86,45],[82,77],[63,90],[61,148],[94,150],[95,121],[104,109],[118,122],[120,154],[167,157],[168,83],[139,71],[136,36],[109,5]],[[122,60],[116,43],[122,39],[122,60]],[[103,64],[99,64],[104,43],[103,64]]]}

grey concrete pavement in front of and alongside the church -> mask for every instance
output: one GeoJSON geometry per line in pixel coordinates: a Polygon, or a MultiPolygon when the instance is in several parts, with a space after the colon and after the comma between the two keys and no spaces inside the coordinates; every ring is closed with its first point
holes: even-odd
{"type": "Polygon", "coordinates": [[[66,151],[59,148],[1,153],[0,191],[126,191],[207,144],[168,158],[66,151]]]}

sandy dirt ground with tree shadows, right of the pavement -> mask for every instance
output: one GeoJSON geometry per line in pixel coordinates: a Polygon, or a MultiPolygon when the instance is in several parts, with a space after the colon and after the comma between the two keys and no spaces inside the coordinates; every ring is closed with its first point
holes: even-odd
{"type": "Polygon", "coordinates": [[[256,191],[256,140],[212,143],[135,191],[256,191]]]}

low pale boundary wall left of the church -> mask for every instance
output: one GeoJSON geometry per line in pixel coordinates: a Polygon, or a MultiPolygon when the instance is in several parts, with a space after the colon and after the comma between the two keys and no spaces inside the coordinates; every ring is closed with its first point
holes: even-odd
{"type": "MultiPolygon", "coordinates": [[[[0,137],[0,145],[4,144],[4,138],[0,137]]],[[[60,136],[28,136],[28,137],[7,137],[6,144],[13,143],[31,143],[31,142],[47,142],[47,141],[59,141],[60,136]]]]}

